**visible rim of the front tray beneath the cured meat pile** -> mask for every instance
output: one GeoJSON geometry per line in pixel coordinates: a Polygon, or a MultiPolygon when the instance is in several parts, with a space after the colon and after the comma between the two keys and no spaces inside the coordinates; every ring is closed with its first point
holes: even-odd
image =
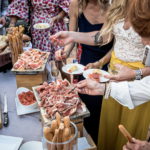
{"type": "MultiPolygon", "coordinates": [[[[40,97],[38,96],[38,93],[36,91],[36,89],[38,87],[39,86],[35,86],[35,87],[32,87],[32,89],[33,89],[34,96],[35,96],[35,98],[36,98],[36,100],[38,102],[38,105],[40,105],[40,101],[41,100],[40,100],[40,97]]],[[[41,112],[42,119],[43,119],[45,124],[50,123],[53,120],[53,118],[51,118],[51,119],[46,118],[46,112],[45,112],[44,108],[40,107],[40,112],[41,112]]],[[[90,112],[85,106],[85,111],[83,111],[80,114],[79,113],[75,113],[74,115],[70,116],[70,118],[71,118],[71,120],[77,120],[77,119],[86,118],[86,117],[89,117],[89,116],[90,116],[90,112]]]]}

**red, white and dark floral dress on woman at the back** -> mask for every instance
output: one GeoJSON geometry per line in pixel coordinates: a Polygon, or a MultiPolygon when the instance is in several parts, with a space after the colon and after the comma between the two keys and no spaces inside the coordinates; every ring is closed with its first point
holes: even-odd
{"type": "Polygon", "coordinates": [[[31,34],[33,48],[42,51],[51,52],[51,58],[54,59],[54,53],[59,49],[58,46],[51,44],[49,36],[56,32],[66,30],[63,19],[54,23],[51,29],[37,30],[33,28],[36,23],[49,23],[51,18],[58,15],[60,11],[68,13],[70,0],[14,0],[8,8],[7,16],[17,16],[31,23],[31,34]],[[29,7],[31,8],[29,14],[29,7]]]}

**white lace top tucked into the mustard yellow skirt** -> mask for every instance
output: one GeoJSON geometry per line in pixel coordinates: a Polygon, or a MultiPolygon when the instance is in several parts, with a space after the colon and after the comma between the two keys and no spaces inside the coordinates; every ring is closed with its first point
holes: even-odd
{"type": "Polygon", "coordinates": [[[117,22],[113,27],[116,43],[114,52],[117,58],[125,62],[142,62],[145,46],[142,44],[141,37],[130,27],[128,30],[123,28],[124,19],[117,22]]]}

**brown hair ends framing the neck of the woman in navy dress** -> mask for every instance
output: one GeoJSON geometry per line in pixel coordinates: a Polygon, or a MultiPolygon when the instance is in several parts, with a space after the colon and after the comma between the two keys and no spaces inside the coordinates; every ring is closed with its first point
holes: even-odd
{"type": "MultiPolygon", "coordinates": [[[[87,7],[89,0],[78,0],[78,8],[79,8],[79,15],[84,11],[87,7]]],[[[109,0],[97,0],[98,4],[101,6],[103,10],[106,10],[109,6],[109,0]]]]}

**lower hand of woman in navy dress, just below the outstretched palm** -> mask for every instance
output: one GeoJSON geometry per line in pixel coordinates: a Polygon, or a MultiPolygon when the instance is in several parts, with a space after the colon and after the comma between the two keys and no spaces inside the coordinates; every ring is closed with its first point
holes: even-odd
{"type": "Polygon", "coordinates": [[[55,59],[57,61],[65,60],[68,58],[68,56],[69,56],[69,53],[63,49],[60,49],[60,50],[55,52],[55,59]]]}

